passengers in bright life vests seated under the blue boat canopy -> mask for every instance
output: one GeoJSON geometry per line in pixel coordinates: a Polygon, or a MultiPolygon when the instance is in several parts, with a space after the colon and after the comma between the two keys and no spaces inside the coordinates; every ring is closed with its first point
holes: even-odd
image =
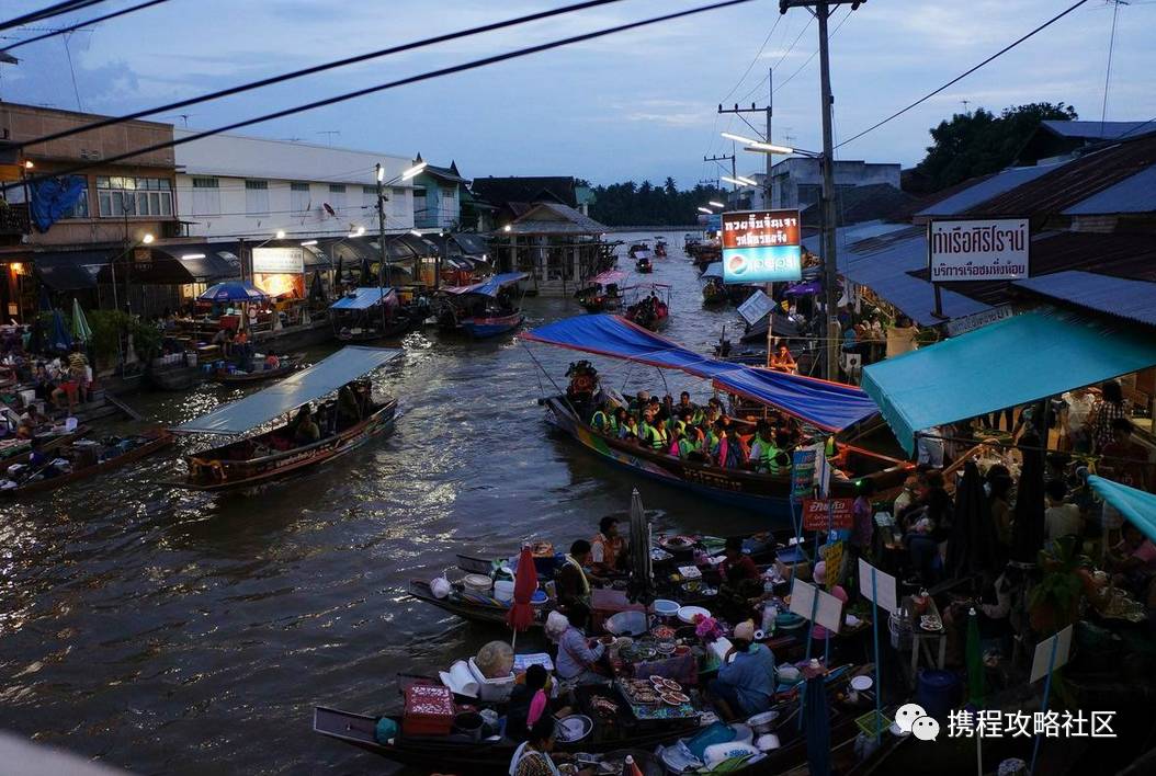
{"type": "Polygon", "coordinates": [[[629,445],[724,469],[747,469],[772,475],[791,470],[791,452],[802,441],[794,418],[771,412],[754,423],[727,415],[717,397],[698,405],[682,391],[661,400],[640,390],[628,406],[607,400],[591,416],[600,433],[629,445]]]}

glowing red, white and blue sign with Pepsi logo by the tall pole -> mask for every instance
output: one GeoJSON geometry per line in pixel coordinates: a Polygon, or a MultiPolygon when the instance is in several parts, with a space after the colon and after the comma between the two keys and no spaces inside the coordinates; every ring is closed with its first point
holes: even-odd
{"type": "Polygon", "coordinates": [[[802,279],[798,210],[722,214],[722,282],[802,279]]]}

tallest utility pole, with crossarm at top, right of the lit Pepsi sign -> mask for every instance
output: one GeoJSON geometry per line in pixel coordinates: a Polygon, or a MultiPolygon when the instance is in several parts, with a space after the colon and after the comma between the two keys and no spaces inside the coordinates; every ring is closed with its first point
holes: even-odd
{"type": "Polygon", "coordinates": [[[839,290],[838,259],[836,255],[836,210],[835,210],[835,142],[831,135],[831,61],[828,46],[827,23],[831,18],[831,9],[838,6],[851,6],[857,10],[866,0],[779,0],[779,13],[790,8],[807,8],[818,20],[818,72],[821,106],[823,109],[823,291],[827,297],[827,379],[839,376],[839,290]]]}

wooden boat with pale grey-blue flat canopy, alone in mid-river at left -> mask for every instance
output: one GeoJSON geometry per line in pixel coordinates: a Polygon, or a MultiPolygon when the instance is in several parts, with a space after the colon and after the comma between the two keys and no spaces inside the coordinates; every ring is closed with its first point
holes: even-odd
{"type": "Polygon", "coordinates": [[[186,456],[185,477],[171,484],[197,491],[250,488],[328,463],[392,431],[397,400],[375,400],[362,378],[401,352],[349,345],[274,386],[177,426],[172,431],[236,439],[186,456]],[[340,411],[339,402],[326,402],[318,423],[320,439],[298,443],[291,413],[354,385],[356,418],[340,411]],[[246,436],[258,430],[264,431],[246,436]]]}

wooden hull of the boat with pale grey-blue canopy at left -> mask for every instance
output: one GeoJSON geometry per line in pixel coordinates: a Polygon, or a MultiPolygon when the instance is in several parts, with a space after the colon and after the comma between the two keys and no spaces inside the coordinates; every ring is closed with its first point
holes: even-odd
{"type": "Polygon", "coordinates": [[[375,436],[392,431],[397,416],[398,402],[391,401],[360,424],[305,447],[249,461],[206,460],[201,456],[190,456],[190,476],[172,484],[193,491],[210,492],[236,491],[265,485],[351,453],[375,436]],[[202,472],[205,469],[210,470],[210,473],[206,473],[205,477],[194,476],[193,472],[202,472]]]}

